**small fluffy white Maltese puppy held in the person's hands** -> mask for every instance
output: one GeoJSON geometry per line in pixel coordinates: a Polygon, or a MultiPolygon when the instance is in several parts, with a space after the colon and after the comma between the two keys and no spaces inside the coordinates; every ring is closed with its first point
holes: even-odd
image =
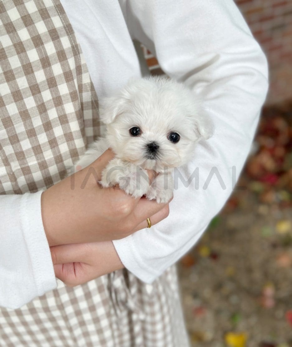
{"type": "Polygon", "coordinates": [[[131,80],[117,94],[100,101],[106,135],[90,145],[76,163],[84,168],[111,147],[115,158],[102,172],[103,187],[119,185],[134,197],[168,202],[173,168],[185,164],[213,125],[195,94],[162,77],[131,80]],[[149,184],[147,170],[157,176],[149,184]]]}

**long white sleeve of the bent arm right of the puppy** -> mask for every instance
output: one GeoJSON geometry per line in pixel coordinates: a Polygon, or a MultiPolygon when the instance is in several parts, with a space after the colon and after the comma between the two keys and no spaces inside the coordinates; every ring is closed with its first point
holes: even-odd
{"type": "Polygon", "coordinates": [[[232,0],[120,1],[133,38],[201,96],[215,132],[179,168],[170,215],[114,241],[122,263],[152,282],[200,238],[234,188],[258,124],[267,61],[232,0]],[[184,183],[184,184],[183,184],[184,183]]]}

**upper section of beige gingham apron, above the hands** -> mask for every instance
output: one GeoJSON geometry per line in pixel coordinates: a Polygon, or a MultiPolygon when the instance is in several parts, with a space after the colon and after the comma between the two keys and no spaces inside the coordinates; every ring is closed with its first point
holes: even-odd
{"type": "Polygon", "coordinates": [[[0,16],[0,193],[36,192],[99,134],[97,96],[59,2],[1,1],[0,16]]]}

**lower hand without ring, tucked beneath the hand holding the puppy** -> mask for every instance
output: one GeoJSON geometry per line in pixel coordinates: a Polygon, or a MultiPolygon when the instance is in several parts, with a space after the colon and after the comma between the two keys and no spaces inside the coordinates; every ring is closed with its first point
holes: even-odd
{"type": "Polygon", "coordinates": [[[73,287],[122,269],[111,241],[50,247],[55,276],[73,287]]]}

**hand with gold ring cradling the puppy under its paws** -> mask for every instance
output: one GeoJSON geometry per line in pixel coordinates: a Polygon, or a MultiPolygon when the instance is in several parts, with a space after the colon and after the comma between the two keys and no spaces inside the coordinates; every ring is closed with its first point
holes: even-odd
{"type": "Polygon", "coordinates": [[[113,157],[107,150],[90,166],[43,192],[42,219],[50,246],[120,239],[146,228],[148,217],[154,225],[168,216],[168,203],[134,198],[118,187],[98,184],[113,157]]]}

